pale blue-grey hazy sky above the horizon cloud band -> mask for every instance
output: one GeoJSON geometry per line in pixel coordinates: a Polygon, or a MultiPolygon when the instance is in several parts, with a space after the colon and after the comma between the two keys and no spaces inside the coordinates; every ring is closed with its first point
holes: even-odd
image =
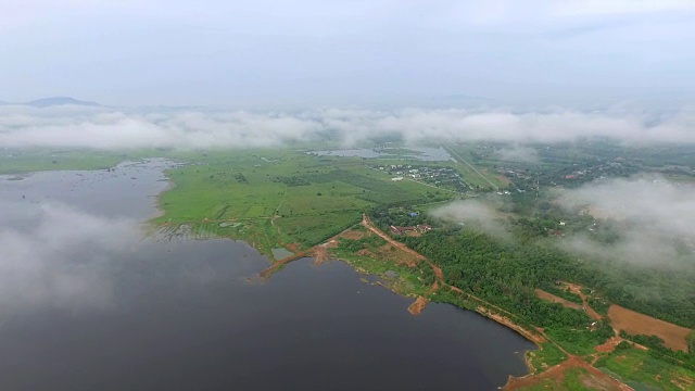
{"type": "Polygon", "coordinates": [[[693,0],[0,0],[0,100],[695,97],[693,0]]]}

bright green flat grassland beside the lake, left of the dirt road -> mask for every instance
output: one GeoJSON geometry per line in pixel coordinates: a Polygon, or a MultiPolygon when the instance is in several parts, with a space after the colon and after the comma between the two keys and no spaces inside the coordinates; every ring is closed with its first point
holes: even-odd
{"type": "Polygon", "coordinates": [[[376,205],[441,202],[452,195],[415,181],[392,181],[370,160],[315,156],[292,149],[206,152],[168,173],[156,224],[207,226],[217,236],[269,249],[307,249],[362,219],[376,205]],[[220,225],[236,224],[220,228],[220,225]]]}

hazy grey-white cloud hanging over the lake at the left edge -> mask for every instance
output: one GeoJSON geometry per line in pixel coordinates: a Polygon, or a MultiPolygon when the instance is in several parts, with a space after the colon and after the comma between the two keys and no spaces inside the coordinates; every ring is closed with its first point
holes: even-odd
{"type": "Polygon", "coordinates": [[[114,304],[110,261],[137,242],[136,222],[63,204],[5,201],[0,210],[0,311],[114,304]]]}

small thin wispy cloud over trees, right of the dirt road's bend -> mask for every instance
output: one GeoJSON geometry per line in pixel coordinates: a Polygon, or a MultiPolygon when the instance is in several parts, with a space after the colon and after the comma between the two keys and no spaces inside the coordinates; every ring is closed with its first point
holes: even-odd
{"type": "Polygon", "coordinates": [[[432,217],[452,223],[463,223],[481,228],[486,234],[509,240],[511,236],[504,226],[504,219],[494,207],[477,200],[454,201],[429,213],[432,217]]]}

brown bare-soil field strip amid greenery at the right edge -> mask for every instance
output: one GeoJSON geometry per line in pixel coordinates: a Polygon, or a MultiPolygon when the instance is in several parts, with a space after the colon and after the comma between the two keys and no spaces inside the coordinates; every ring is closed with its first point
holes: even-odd
{"type": "Polygon", "coordinates": [[[626,330],[631,335],[657,336],[664,340],[667,348],[687,352],[685,338],[691,329],[659,320],[652,316],[611,304],[608,317],[616,330],[626,330]]]}

